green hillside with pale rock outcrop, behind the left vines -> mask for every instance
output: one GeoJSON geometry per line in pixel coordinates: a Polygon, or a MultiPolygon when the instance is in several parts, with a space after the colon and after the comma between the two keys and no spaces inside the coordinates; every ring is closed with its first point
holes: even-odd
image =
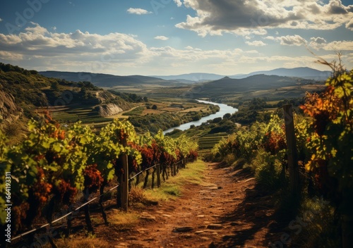
{"type": "Polygon", "coordinates": [[[26,121],[38,111],[49,110],[64,122],[101,123],[131,109],[133,99],[92,85],[40,75],[35,70],[0,63],[0,127],[26,121]],[[124,99],[122,98],[124,97],[124,99]]]}

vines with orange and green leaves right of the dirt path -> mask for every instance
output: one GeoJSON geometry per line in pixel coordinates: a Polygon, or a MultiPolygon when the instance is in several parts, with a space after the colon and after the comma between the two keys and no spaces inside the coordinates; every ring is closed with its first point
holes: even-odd
{"type": "Polygon", "coordinates": [[[353,70],[327,64],[333,75],[323,92],[306,94],[304,115],[273,115],[267,123],[237,130],[212,150],[213,159],[244,164],[259,183],[279,192],[282,206],[287,204],[284,216],[294,218],[298,209],[310,213],[304,218],[313,226],[306,228],[306,240],[295,236],[273,247],[353,246],[353,70]],[[295,143],[289,150],[285,126],[293,121],[295,143]]]}

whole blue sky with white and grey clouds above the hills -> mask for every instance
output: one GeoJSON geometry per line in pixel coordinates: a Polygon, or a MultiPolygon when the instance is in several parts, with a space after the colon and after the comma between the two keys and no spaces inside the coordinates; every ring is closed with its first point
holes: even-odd
{"type": "Polygon", "coordinates": [[[0,9],[0,62],[114,75],[353,68],[352,0],[28,0],[0,9]],[[313,52],[313,54],[311,54],[313,52]]]}

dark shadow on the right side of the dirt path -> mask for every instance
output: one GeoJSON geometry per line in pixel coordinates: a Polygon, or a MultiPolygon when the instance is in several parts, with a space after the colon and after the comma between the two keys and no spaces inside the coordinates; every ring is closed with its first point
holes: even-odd
{"type": "MultiPolygon", "coordinates": [[[[225,168],[224,165],[217,168],[225,168]]],[[[235,182],[245,182],[254,180],[254,175],[250,168],[229,168],[227,176],[235,182]]],[[[252,188],[246,189],[246,196],[243,201],[230,213],[220,216],[222,225],[232,225],[232,235],[222,237],[222,242],[212,243],[210,247],[246,247],[248,240],[254,240],[256,233],[263,228],[268,232],[264,240],[259,240],[259,244],[254,247],[271,247],[271,242],[280,240],[284,228],[288,225],[289,218],[283,219],[275,212],[278,193],[271,192],[263,185],[255,182],[252,188]]]]}

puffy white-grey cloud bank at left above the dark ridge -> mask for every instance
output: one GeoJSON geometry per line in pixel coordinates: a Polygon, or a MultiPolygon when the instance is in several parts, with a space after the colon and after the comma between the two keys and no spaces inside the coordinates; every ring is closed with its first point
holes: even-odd
{"type": "Polygon", "coordinates": [[[0,59],[15,53],[24,59],[35,58],[43,67],[49,64],[66,70],[97,70],[95,65],[138,65],[148,61],[152,55],[147,46],[130,35],[109,33],[107,35],[89,32],[49,32],[37,23],[26,27],[18,35],[0,34],[0,59]],[[8,54],[5,54],[8,53],[8,54]],[[78,69],[79,68],[79,69],[78,69]]]}

